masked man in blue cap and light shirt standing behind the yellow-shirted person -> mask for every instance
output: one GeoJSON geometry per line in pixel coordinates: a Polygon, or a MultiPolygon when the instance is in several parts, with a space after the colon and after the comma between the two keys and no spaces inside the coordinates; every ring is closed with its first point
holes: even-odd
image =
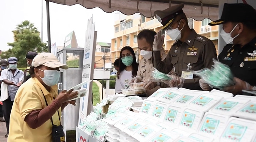
{"type": "MultiPolygon", "coordinates": [[[[8,98],[3,101],[3,112],[7,129],[7,134],[5,135],[5,137],[8,137],[9,135],[10,115],[13,101],[19,89],[19,86],[23,83],[24,77],[24,72],[17,69],[18,59],[16,57],[8,58],[7,63],[9,65],[9,68],[2,70],[0,76],[0,81],[8,85],[8,98]]],[[[1,92],[1,95],[3,95],[3,92],[1,92]]]]}

